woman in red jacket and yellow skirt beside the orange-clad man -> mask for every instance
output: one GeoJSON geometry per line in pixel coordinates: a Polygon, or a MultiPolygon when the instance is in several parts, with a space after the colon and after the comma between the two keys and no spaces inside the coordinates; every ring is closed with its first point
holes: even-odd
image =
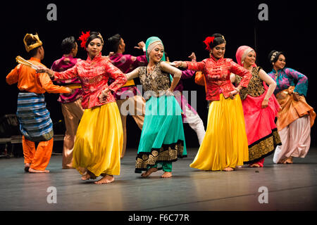
{"type": "Polygon", "coordinates": [[[42,68],[55,80],[79,77],[82,84],[82,108],[85,109],[77,129],[73,150],[73,167],[82,180],[103,176],[95,184],[114,181],[120,174],[120,150],[123,147],[123,129],[116,100],[110,91],[116,91],[127,81],[123,72],[101,56],[104,40],[98,32],[87,32],[80,37],[87,50],[87,60],[79,60],[73,68],[53,72],[42,68]],[[115,81],[108,86],[109,77],[115,81]],[[82,171],[85,168],[86,172],[82,171]]]}

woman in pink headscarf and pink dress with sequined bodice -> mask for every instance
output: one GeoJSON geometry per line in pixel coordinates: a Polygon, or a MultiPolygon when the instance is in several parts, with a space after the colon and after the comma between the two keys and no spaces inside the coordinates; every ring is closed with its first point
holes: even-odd
{"type": "MultiPolygon", "coordinates": [[[[276,83],[264,70],[256,67],[254,49],[240,46],[235,56],[237,63],[252,73],[249,85],[240,92],[249,145],[249,162],[244,164],[263,167],[264,158],[271,155],[275,147],[281,144],[274,122],[280,110],[278,101],[272,96],[276,83]]],[[[233,75],[232,79],[236,85],[241,82],[241,77],[233,75]]]]}

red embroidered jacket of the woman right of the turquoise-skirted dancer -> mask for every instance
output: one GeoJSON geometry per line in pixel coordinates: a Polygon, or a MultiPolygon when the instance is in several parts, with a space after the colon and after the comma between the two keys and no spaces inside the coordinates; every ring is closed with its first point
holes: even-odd
{"type": "Polygon", "coordinates": [[[220,58],[216,61],[213,57],[201,62],[186,62],[189,70],[201,71],[206,77],[206,100],[218,101],[222,93],[225,98],[230,96],[230,91],[235,86],[230,82],[230,73],[242,78],[240,86],[247,87],[251,79],[251,72],[243,68],[230,58],[220,58]]]}

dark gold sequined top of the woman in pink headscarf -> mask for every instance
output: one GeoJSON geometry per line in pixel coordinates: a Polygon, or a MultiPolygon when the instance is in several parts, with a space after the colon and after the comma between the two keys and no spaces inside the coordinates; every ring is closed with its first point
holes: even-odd
{"type": "MultiPolygon", "coordinates": [[[[252,97],[259,97],[266,91],[263,86],[263,80],[259,76],[260,70],[260,67],[252,68],[252,77],[250,79],[249,85],[240,91],[240,97],[242,100],[247,98],[248,94],[252,97]]],[[[241,79],[242,77],[235,76],[235,84],[239,85],[241,79]]]]}

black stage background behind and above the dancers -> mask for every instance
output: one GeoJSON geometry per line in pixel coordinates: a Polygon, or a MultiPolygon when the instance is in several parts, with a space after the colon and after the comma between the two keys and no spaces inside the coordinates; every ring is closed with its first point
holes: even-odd
{"type": "MultiPolygon", "coordinates": [[[[202,41],[213,33],[221,33],[227,41],[225,57],[235,60],[241,45],[256,49],[257,64],[271,71],[268,53],[285,51],[287,67],[309,78],[307,102],[316,105],[316,6],[313,1],[6,1],[1,7],[1,114],[15,113],[18,89],[6,84],[5,77],[17,65],[15,57],[28,58],[23,44],[27,32],[39,34],[44,43],[45,58],[51,67],[61,58],[60,44],[65,37],[78,38],[82,31],[99,31],[106,40],[120,33],[125,39],[126,52],[142,54],[134,49],[139,41],[158,36],[170,60],[187,60],[194,51],[197,60],[209,57],[202,41]],[[46,18],[57,6],[57,20],[46,18]],[[268,5],[268,21],[260,21],[259,4],[268,5]]],[[[79,41],[77,42],[79,44],[79,41]]],[[[103,55],[108,54],[107,49],[103,55]]],[[[87,58],[79,48],[78,58],[87,58]]],[[[136,80],[139,84],[139,82],[136,80]]],[[[197,112],[207,123],[204,86],[192,79],[185,80],[185,90],[197,90],[197,112]]],[[[45,94],[47,108],[53,122],[63,120],[57,94],[45,94]]],[[[190,100],[189,100],[190,102],[190,100]]],[[[235,115],[232,114],[232,117],[235,115]]],[[[63,124],[56,124],[55,133],[63,133],[63,124]]],[[[128,148],[137,148],[141,131],[132,117],[128,117],[128,148]]],[[[197,136],[185,124],[187,147],[198,147],[197,136]]],[[[311,145],[316,146],[316,125],[311,131],[311,145]]]]}

